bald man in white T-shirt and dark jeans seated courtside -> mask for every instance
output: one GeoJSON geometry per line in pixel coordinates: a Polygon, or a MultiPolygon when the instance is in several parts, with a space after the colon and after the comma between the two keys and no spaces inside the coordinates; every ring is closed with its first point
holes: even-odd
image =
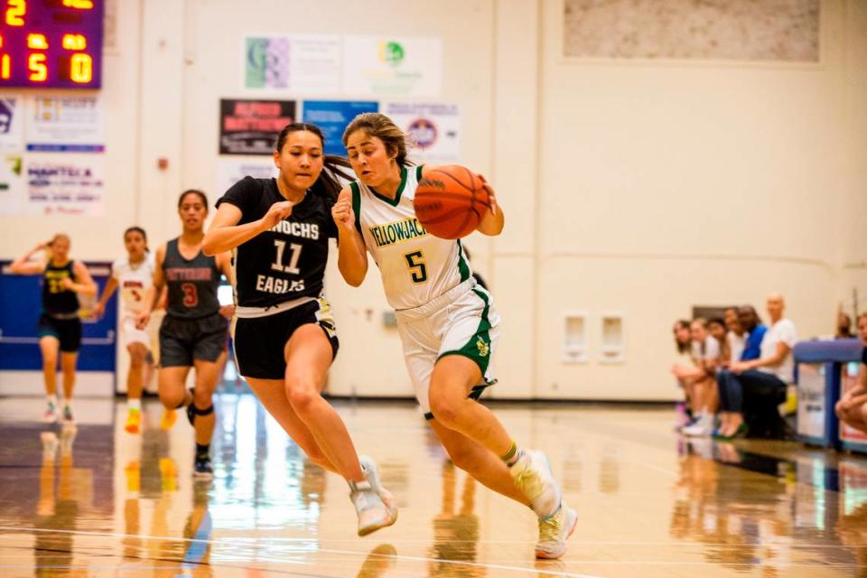
{"type": "MultiPolygon", "coordinates": [[[[792,347],[797,340],[795,324],[783,316],[785,308],[781,295],[769,295],[771,326],[761,340],[759,358],[738,361],[732,364],[729,371],[721,372],[719,396],[722,424],[718,437],[732,439],[745,435],[747,424],[744,422],[744,412],[769,404],[776,408],[785,400],[794,370],[792,347]]],[[[750,348],[749,338],[747,343],[744,356],[750,348]]]]}

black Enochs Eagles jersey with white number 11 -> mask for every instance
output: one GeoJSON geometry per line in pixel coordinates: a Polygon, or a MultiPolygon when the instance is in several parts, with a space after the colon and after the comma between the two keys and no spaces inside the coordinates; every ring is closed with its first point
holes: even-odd
{"type": "MultiPolygon", "coordinates": [[[[275,202],[283,200],[275,179],[245,177],[226,191],[217,206],[228,202],[238,207],[238,225],[244,225],[262,219],[275,202]]],[[[328,239],[337,237],[333,204],[308,191],[289,217],[235,248],[232,263],[239,307],[269,308],[322,294],[328,239]]]]}

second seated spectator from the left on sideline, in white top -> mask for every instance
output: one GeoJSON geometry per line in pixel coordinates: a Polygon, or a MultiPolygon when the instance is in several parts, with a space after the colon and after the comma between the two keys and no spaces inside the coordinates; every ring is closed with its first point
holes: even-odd
{"type": "Polygon", "coordinates": [[[693,368],[672,368],[676,378],[688,387],[690,405],[695,423],[686,426],[683,432],[691,436],[705,436],[713,432],[713,415],[716,412],[717,396],[714,375],[720,359],[720,343],[707,331],[707,322],[702,318],[690,324],[693,340],[693,368]]]}

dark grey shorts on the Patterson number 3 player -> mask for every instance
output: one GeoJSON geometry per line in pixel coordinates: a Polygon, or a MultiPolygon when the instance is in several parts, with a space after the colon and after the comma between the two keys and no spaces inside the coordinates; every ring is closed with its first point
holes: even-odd
{"type": "Polygon", "coordinates": [[[191,368],[193,359],[216,361],[227,331],[226,318],[219,313],[200,319],[166,315],[160,325],[160,367],[191,368]]]}

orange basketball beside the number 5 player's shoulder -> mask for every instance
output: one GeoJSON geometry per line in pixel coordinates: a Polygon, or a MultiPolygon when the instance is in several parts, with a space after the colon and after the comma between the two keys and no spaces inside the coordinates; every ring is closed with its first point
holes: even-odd
{"type": "Polygon", "coordinates": [[[418,221],[439,238],[466,237],[490,206],[484,180],[457,164],[425,171],[413,204],[418,221]]]}

